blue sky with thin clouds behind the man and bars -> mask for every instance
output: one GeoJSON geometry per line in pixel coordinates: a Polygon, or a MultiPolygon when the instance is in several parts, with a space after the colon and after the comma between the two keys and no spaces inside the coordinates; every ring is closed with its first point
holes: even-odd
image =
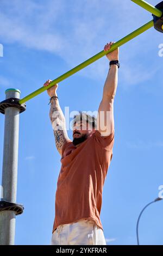
{"type": "MultiPolygon", "coordinates": [[[[155,5],[156,1],[150,0],[155,5]]],[[[21,97],[43,86],[150,21],[129,0],[0,0],[0,101],[7,88],[21,97]]],[[[162,179],[162,34],[154,28],[120,48],[121,68],[114,103],[115,144],[105,180],[101,221],[108,245],[135,245],[136,221],[143,206],[158,197],[162,179]]],[[[59,84],[62,110],[97,111],[109,61],[103,57],[59,84]]],[[[16,245],[48,245],[60,170],[49,120],[48,95],[27,102],[20,115],[16,245]]],[[[0,165],[4,115],[0,115],[0,165]]],[[[68,131],[72,138],[72,131],[68,131]]],[[[2,172],[2,168],[1,168],[2,172]]],[[[0,173],[1,175],[1,173],[0,173]]],[[[163,245],[163,202],[140,220],[140,243],[163,245]]]]}

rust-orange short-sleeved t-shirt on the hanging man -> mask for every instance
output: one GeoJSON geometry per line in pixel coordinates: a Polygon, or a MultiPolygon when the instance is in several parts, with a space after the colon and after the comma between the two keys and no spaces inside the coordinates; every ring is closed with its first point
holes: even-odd
{"type": "Polygon", "coordinates": [[[61,224],[83,218],[103,229],[99,215],[113,145],[114,132],[109,136],[101,136],[98,130],[78,147],[72,141],[63,145],[55,194],[53,232],[61,224]]]}

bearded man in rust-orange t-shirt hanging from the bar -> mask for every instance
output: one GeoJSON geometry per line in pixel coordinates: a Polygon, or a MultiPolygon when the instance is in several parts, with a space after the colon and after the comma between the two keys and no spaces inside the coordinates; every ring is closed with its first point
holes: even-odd
{"type": "MultiPolygon", "coordinates": [[[[106,44],[104,51],[108,51],[112,44],[106,44]]],[[[97,120],[85,113],[76,115],[73,141],[68,138],[65,117],[59,106],[58,84],[47,90],[51,97],[49,116],[55,144],[61,155],[52,245],[106,245],[100,212],[104,180],[114,145],[113,105],[119,68],[118,49],[106,57],[110,60],[110,69],[97,120]]],[[[50,82],[48,80],[44,86],[50,82]]]]}

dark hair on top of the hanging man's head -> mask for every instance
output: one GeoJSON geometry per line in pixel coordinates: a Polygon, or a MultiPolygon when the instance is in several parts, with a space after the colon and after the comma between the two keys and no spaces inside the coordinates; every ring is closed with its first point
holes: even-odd
{"type": "Polygon", "coordinates": [[[86,113],[84,113],[82,111],[79,111],[79,114],[76,114],[73,117],[73,125],[77,121],[82,121],[82,120],[85,120],[87,123],[91,124],[92,127],[96,128],[97,119],[96,119],[95,115],[91,116],[91,115],[86,114],[86,113]]]}

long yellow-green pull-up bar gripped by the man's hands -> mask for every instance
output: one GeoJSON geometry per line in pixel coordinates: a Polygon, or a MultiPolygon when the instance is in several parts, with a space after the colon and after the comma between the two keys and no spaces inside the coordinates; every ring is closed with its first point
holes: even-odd
{"type": "Polygon", "coordinates": [[[63,80],[65,80],[67,77],[72,76],[73,74],[75,74],[76,72],[78,72],[79,70],[84,69],[86,66],[90,65],[93,62],[96,62],[96,60],[102,58],[103,56],[105,56],[106,54],[108,54],[109,52],[114,51],[116,48],[120,47],[123,44],[126,44],[126,42],[130,41],[131,39],[135,38],[137,35],[145,32],[147,29],[151,28],[153,26],[153,20],[149,21],[148,23],[146,23],[145,25],[143,25],[142,27],[136,29],[134,32],[130,33],[129,35],[125,36],[124,38],[122,38],[121,40],[115,42],[115,44],[113,44],[110,48],[109,51],[105,52],[105,51],[101,51],[99,53],[97,53],[95,56],[91,57],[90,59],[87,59],[85,62],[79,64],[78,66],[76,66],[75,68],[71,69],[70,71],[66,72],[65,74],[59,76],[58,78],[54,79],[49,86],[47,87],[41,87],[40,89],[35,90],[35,92],[27,95],[26,97],[24,97],[23,99],[21,99],[19,101],[20,104],[27,102],[28,100],[32,99],[33,97],[35,97],[36,95],[39,95],[42,92],[45,92],[45,90],[51,88],[52,86],[54,86],[54,84],[59,83],[63,80]]]}

